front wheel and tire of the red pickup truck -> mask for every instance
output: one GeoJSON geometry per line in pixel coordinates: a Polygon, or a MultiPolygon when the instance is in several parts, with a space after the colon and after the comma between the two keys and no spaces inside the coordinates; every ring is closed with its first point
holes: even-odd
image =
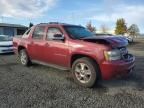
{"type": "Polygon", "coordinates": [[[98,79],[98,65],[90,58],[83,57],[77,59],[72,64],[72,74],[74,81],[81,86],[91,88],[98,79]]]}

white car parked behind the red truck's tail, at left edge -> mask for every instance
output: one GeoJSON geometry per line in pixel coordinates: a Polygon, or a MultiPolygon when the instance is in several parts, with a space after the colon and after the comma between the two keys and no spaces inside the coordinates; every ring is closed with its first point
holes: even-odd
{"type": "Polygon", "coordinates": [[[14,52],[12,37],[0,35],[0,54],[12,52],[14,52]]]}

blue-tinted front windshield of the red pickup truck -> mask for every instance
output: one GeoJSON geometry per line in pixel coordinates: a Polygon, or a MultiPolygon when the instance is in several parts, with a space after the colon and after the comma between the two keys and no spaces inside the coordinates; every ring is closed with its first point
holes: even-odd
{"type": "Polygon", "coordinates": [[[73,39],[81,39],[93,36],[90,31],[81,26],[64,26],[64,28],[73,39]]]}

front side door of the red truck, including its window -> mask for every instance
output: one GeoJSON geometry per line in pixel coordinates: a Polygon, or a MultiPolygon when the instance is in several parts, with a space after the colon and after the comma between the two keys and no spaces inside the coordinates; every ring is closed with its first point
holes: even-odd
{"type": "Polygon", "coordinates": [[[69,48],[68,42],[65,39],[54,40],[55,34],[64,35],[59,27],[48,27],[46,40],[47,47],[45,47],[45,61],[54,65],[68,67],[69,63],[69,48]]]}

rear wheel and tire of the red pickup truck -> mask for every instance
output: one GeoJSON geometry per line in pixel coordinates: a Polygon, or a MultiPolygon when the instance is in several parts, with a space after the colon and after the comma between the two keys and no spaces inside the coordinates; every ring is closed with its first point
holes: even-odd
{"type": "Polygon", "coordinates": [[[31,65],[31,60],[30,60],[25,49],[20,50],[19,58],[20,58],[20,62],[22,65],[24,65],[24,66],[30,66],[31,65]]]}

